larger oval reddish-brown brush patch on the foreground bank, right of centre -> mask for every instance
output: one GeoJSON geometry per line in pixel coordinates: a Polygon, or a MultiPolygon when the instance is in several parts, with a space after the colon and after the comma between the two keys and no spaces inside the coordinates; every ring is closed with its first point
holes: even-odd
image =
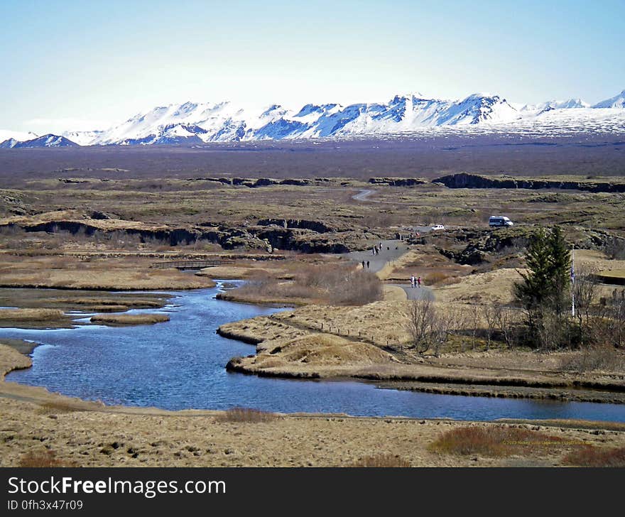
{"type": "Polygon", "coordinates": [[[428,446],[428,450],[450,455],[504,457],[545,450],[562,445],[562,442],[564,440],[560,437],[526,429],[467,426],[443,433],[428,446]]]}

